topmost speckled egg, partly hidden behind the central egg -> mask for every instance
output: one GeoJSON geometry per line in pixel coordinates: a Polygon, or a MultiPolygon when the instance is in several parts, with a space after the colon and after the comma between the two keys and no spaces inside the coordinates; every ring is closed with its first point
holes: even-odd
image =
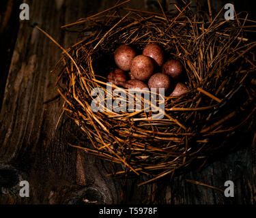
{"type": "Polygon", "coordinates": [[[151,57],[158,67],[161,67],[162,63],[164,63],[164,51],[158,44],[149,44],[145,46],[142,55],[151,57]]]}

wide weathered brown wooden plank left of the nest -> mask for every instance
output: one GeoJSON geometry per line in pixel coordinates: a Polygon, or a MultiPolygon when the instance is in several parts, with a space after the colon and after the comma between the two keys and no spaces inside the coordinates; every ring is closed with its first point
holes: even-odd
{"type": "Polygon", "coordinates": [[[96,163],[101,163],[67,144],[70,134],[79,135],[78,127],[64,118],[55,130],[62,99],[49,104],[43,102],[57,95],[55,78],[50,71],[60,57],[60,50],[37,29],[30,27],[37,22],[68,48],[76,42],[77,35],[65,33],[59,27],[93,14],[95,5],[101,10],[101,2],[94,1],[93,5],[88,1],[27,3],[31,20],[20,22],[1,110],[0,156],[2,162],[11,163],[26,174],[25,179],[31,185],[31,198],[26,201],[17,196],[9,198],[14,198],[12,202],[47,203],[51,193],[51,203],[65,202],[72,190],[94,183],[104,190],[106,202],[115,202],[108,193],[111,183],[98,178],[101,170],[97,170],[96,163]],[[83,178],[80,173],[88,176],[83,178]]]}

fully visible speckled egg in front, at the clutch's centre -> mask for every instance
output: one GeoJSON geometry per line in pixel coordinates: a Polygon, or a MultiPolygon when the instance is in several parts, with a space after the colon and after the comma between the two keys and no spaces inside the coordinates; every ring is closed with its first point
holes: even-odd
{"type": "Polygon", "coordinates": [[[148,80],[154,72],[154,62],[150,57],[138,55],[132,59],[130,72],[137,80],[148,80]]]}

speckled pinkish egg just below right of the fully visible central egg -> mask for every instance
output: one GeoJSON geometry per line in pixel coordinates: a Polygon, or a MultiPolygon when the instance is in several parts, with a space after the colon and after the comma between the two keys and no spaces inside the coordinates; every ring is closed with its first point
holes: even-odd
{"type": "Polygon", "coordinates": [[[167,74],[157,73],[150,77],[148,80],[148,87],[150,89],[156,88],[158,92],[160,88],[164,88],[167,91],[171,87],[171,77],[167,74]]]}

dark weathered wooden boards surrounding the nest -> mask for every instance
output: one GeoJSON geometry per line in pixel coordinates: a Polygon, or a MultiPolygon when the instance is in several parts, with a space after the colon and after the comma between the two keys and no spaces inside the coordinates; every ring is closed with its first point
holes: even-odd
{"type": "MultiPolygon", "coordinates": [[[[213,13],[234,3],[236,12],[247,10],[255,19],[252,1],[210,1],[213,13]]],[[[61,25],[113,6],[114,0],[4,0],[0,7],[0,204],[255,204],[256,152],[251,141],[240,149],[221,155],[203,170],[193,170],[137,187],[145,176],[106,176],[111,164],[68,146],[83,143],[81,130],[63,116],[55,129],[63,100],[56,98],[51,69],[60,50],[37,29],[34,22],[68,48],[76,33],[61,25]],[[20,3],[28,3],[30,20],[19,20],[20,3]],[[45,102],[48,102],[44,104],[45,102]],[[80,141],[77,141],[77,137],[80,141]],[[29,181],[30,197],[20,198],[19,181],[29,181]],[[199,181],[225,189],[225,181],[235,184],[234,198],[222,191],[195,185],[199,181]],[[85,200],[85,201],[83,201],[85,200]]],[[[167,1],[166,1],[167,3],[167,1]]],[[[207,1],[201,1],[208,8],[207,1]]],[[[131,1],[128,7],[159,12],[157,1],[131,1]]],[[[173,7],[173,6],[170,6],[173,7]]]]}

